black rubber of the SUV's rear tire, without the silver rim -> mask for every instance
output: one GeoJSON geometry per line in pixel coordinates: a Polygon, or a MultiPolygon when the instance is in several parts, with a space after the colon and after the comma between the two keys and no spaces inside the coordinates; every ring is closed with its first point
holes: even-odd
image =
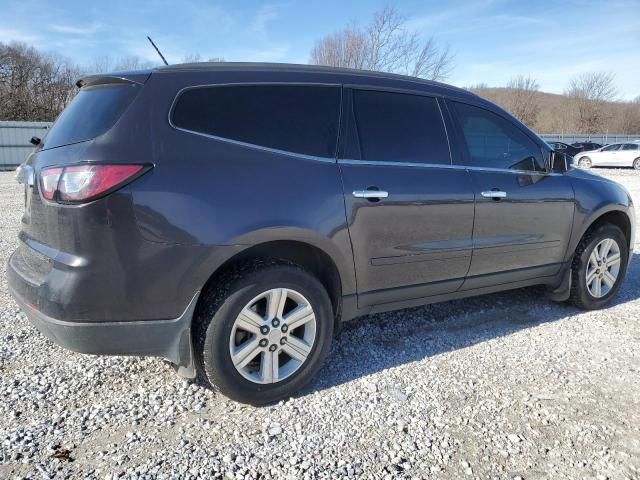
{"type": "MultiPolygon", "coordinates": [[[[200,319],[207,322],[207,319],[200,319]]],[[[203,329],[202,367],[207,379],[226,396],[244,403],[264,405],[287,398],[317,373],[333,337],[331,301],[322,284],[310,273],[292,265],[274,265],[249,273],[229,288],[213,317],[203,329]],[[231,361],[229,339],[240,311],[256,296],[272,288],[289,288],[302,294],[316,316],[316,338],[305,363],[291,376],[275,384],[258,384],[244,378],[231,361]]]]}

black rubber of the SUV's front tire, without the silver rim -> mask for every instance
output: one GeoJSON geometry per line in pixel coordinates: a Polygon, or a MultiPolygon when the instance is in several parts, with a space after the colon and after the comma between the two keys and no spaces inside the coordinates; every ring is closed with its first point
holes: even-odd
{"type": "Polygon", "coordinates": [[[627,239],[625,238],[622,230],[615,225],[604,225],[597,228],[590,236],[584,249],[576,259],[573,267],[574,281],[577,285],[574,289],[574,297],[576,303],[589,310],[595,310],[606,306],[613,297],[618,293],[622,281],[627,273],[627,263],[629,261],[629,249],[627,246],[627,239]],[[618,243],[620,247],[620,271],[618,272],[618,278],[613,288],[604,297],[595,298],[591,296],[587,288],[587,265],[589,263],[589,257],[593,252],[593,249],[605,238],[612,238],[618,243]]]}

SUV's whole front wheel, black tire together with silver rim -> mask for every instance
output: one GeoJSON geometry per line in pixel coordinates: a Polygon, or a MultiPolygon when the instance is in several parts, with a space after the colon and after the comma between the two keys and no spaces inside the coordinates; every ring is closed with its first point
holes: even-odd
{"type": "Polygon", "coordinates": [[[605,307],[620,289],[628,259],[627,239],[617,226],[587,232],[574,255],[569,300],[584,310],[605,307]]]}

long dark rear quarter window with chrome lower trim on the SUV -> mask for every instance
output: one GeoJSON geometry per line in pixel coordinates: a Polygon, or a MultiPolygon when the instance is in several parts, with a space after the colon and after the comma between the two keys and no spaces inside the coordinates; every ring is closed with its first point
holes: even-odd
{"type": "Polygon", "coordinates": [[[339,114],[339,87],[234,85],[185,90],[172,122],[224,139],[334,157],[339,114]]]}

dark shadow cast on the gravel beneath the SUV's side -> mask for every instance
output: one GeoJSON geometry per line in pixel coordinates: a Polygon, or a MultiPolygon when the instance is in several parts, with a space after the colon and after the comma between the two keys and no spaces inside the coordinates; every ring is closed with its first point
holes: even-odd
{"type": "MultiPolygon", "coordinates": [[[[638,298],[640,255],[607,308],[638,298]]],[[[580,312],[548,300],[543,287],[531,287],[361,317],[344,325],[325,366],[300,396],[580,312]]]]}

